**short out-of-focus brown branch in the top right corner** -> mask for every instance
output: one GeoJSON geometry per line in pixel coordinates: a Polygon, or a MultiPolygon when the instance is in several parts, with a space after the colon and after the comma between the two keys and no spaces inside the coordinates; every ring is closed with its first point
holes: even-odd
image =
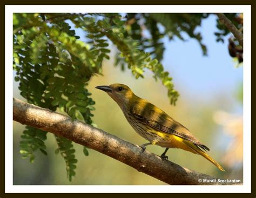
{"type": "Polygon", "coordinates": [[[221,23],[223,23],[228,30],[230,30],[234,37],[238,39],[239,44],[241,45],[241,47],[243,47],[244,45],[244,38],[242,35],[242,32],[240,32],[235,25],[230,21],[230,19],[228,19],[224,13],[216,13],[216,15],[219,17],[219,20],[221,23]]]}

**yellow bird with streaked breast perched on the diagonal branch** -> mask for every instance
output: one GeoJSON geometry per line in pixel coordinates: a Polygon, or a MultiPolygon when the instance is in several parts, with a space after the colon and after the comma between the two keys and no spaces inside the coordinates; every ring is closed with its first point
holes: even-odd
{"type": "Polygon", "coordinates": [[[140,146],[143,152],[148,145],[158,145],[165,148],[160,157],[167,160],[166,152],[169,148],[180,148],[203,156],[225,172],[224,168],[206,153],[210,149],[201,144],[185,126],[149,101],[139,98],[128,86],[111,84],[95,88],[106,92],[116,101],[134,131],[149,141],[140,146]]]}

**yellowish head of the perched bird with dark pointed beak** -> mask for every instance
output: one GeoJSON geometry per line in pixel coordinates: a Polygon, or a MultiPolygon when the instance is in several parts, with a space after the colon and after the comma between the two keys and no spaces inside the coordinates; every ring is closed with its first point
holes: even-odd
{"type": "Polygon", "coordinates": [[[109,86],[97,86],[99,90],[105,91],[121,107],[129,106],[134,97],[132,90],[124,84],[112,84],[109,86]]]}

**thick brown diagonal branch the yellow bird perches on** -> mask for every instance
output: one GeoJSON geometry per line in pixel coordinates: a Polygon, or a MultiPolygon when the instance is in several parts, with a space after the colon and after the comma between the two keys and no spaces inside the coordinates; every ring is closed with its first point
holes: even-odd
{"type": "Polygon", "coordinates": [[[217,177],[181,167],[171,161],[163,160],[149,151],[143,152],[143,149],[137,145],[124,141],[102,129],[72,120],[66,115],[25,103],[16,98],[13,99],[13,107],[13,119],[21,124],[63,136],[77,144],[95,149],[169,185],[238,184],[218,183],[217,177]],[[204,180],[216,182],[203,182],[204,180]]]}

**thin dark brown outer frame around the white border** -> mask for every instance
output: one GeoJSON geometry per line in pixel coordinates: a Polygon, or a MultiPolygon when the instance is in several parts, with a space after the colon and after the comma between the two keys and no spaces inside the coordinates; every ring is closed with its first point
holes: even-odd
{"type": "MultiPolygon", "coordinates": [[[[1,29],[2,31],[0,31],[0,35],[1,35],[1,60],[2,60],[2,67],[1,67],[1,72],[0,72],[0,84],[1,84],[1,93],[4,93],[5,91],[5,88],[4,88],[4,85],[5,85],[5,76],[4,76],[4,72],[5,72],[5,67],[4,67],[4,62],[5,62],[5,59],[4,59],[4,41],[5,41],[5,35],[4,35],[4,25],[5,25],[5,5],[17,5],[17,4],[23,4],[23,5],[35,5],[35,4],[38,4],[38,5],[56,5],[56,4],[63,4],[63,5],[69,5],[69,4],[73,4],[73,5],[79,5],[79,4],[95,4],[96,2],[82,2],[82,1],[78,1],[78,0],[75,0],[75,1],[58,1],[58,0],[45,0],[45,1],[31,1],[31,0],[24,0],[24,1],[17,1],[17,0],[14,0],[14,1],[2,1],[1,2],[1,29]]],[[[100,1],[97,1],[98,4],[106,4],[106,1],[103,1],[103,0],[100,0],[100,1]]],[[[138,2],[138,1],[134,1],[134,0],[130,0],[129,2],[124,2],[124,1],[107,1],[108,4],[111,4],[111,5],[114,5],[114,4],[129,4],[129,5],[138,5],[138,4],[144,4],[145,2],[138,2]]],[[[170,1],[170,2],[165,2],[163,0],[160,0],[160,1],[157,1],[157,2],[146,2],[147,4],[150,4],[150,5],[153,5],[153,4],[159,4],[159,5],[164,5],[164,4],[170,4],[170,5],[201,5],[201,4],[208,4],[208,5],[251,5],[251,13],[252,13],[252,35],[255,35],[255,1],[252,1],[252,0],[233,0],[233,1],[228,1],[228,0],[215,0],[215,1],[212,1],[212,0],[209,0],[209,1],[202,1],[202,0],[195,0],[195,1],[188,1],[188,0],[180,0],[180,1],[170,1]]],[[[255,46],[256,46],[256,43],[255,43],[255,38],[252,37],[252,54],[255,54],[255,46]]],[[[255,65],[255,56],[252,56],[252,65],[255,65]]],[[[253,72],[253,69],[254,67],[252,67],[252,72],[253,72]]],[[[252,84],[253,84],[253,81],[252,81],[252,84]]],[[[2,97],[0,97],[0,101],[1,101],[1,128],[2,128],[2,133],[1,133],[1,138],[0,138],[0,148],[1,148],[1,162],[0,163],[0,175],[1,175],[1,178],[0,178],[0,197],[17,197],[17,196],[24,196],[24,197],[33,197],[33,196],[38,196],[38,197],[45,197],[44,194],[11,194],[11,193],[5,193],[5,164],[4,164],[4,158],[5,158],[5,153],[4,153],[4,147],[5,147],[5,142],[4,142],[4,139],[5,139],[5,135],[4,135],[4,129],[5,129],[5,118],[4,118],[4,114],[5,114],[5,99],[4,99],[4,95],[2,95],[2,97]]],[[[253,104],[252,104],[252,108],[253,108],[253,104]]],[[[8,110],[7,110],[8,111],[8,110]]],[[[252,127],[252,132],[253,132],[253,127],[252,127]]],[[[252,192],[251,193],[246,193],[246,194],[204,194],[204,193],[196,193],[196,194],[190,194],[190,195],[187,195],[187,194],[173,194],[174,196],[196,196],[196,197],[215,197],[215,196],[218,196],[218,197],[256,197],[256,184],[255,184],[255,169],[253,167],[256,167],[255,165],[255,144],[253,144],[253,141],[255,139],[255,133],[252,133],[252,139],[251,139],[251,145],[252,145],[252,164],[251,164],[251,167],[252,167],[252,179],[251,179],[251,189],[252,189],[252,192]]],[[[70,196],[69,194],[58,194],[60,196],[70,196]]],[[[89,196],[96,196],[97,194],[90,194],[89,196]]],[[[98,194],[99,195],[99,194],[98,194]]],[[[142,196],[141,194],[136,194],[137,196],[142,196]]],[[[166,195],[166,194],[165,194],[166,195]]],[[[56,194],[46,194],[46,196],[49,196],[49,197],[54,197],[56,196],[56,194]]],[[[74,196],[74,195],[72,195],[74,196]]],[[[76,197],[84,197],[86,195],[84,194],[75,194],[76,197]]],[[[100,196],[100,195],[99,195],[100,196]]],[[[117,197],[117,196],[120,196],[120,194],[110,194],[110,196],[113,196],[113,197],[117,197]]],[[[149,196],[148,194],[146,196],[149,196]]],[[[155,195],[152,195],[152,196],[155,196],[155,195]]],[[[168,196],[172,196],[172,195],[168,195],[168,196]]]]}

